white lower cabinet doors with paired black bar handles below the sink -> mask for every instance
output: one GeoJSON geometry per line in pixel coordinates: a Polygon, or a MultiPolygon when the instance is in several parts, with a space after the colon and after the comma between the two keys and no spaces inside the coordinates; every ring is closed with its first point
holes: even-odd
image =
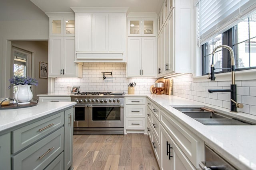
{"type": "Polygon", "coordinates": [[[196,170],[162,125],[160,125],[160,141],[162,170],[196,170]]]}

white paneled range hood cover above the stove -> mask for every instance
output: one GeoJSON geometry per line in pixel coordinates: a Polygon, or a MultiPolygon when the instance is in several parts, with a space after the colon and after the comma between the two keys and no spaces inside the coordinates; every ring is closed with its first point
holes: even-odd
{"type": "Polygon", "coordinates": [[[72,8],[76,62],[126,61],[126,8],[72,8]]]}

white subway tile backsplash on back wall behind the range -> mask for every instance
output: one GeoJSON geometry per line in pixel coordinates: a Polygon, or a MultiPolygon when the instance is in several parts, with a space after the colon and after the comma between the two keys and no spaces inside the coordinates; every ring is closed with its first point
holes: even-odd
{"type": "Polygon", "coordinates": [[[67,93],[67,86],[80,86],[79,91],[128,92],[130,82],[136,82],[135,93],[150,94],[156,78],[126,78],[125,63],[84,63],[83,78],[55,78],[55,93],[67,93]],[[111,72],[103,79],[101,72],[111,72]],[[60,87],[64,86],[64,87],[60,87]]]}

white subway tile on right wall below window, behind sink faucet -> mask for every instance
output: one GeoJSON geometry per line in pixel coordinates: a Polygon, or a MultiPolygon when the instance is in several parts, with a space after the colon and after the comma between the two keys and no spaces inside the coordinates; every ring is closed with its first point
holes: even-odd
{"type": "MultiPolygon", "coordinates": [[[[230,92],[209,93],[208,89],[230,89],[231,81],[192,82],[192,74],[173,79],[172,95],[230,109],[230,92]]],[[[236,86],[237,102],[244,104],[238,111],[256,115],[256,80],[238,80],[236,86]]]]}

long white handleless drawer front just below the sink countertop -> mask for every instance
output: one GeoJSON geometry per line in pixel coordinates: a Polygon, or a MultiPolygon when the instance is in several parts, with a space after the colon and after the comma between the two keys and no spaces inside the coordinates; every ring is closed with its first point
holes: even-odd
{"type": "Polygon", "coordinates": [[[196,137],[173,117],[161,111],[160,122],[170,136],[174,139],[188,159],[198,168],[200,160],[204,160],[204,141],[196,137]]]}

